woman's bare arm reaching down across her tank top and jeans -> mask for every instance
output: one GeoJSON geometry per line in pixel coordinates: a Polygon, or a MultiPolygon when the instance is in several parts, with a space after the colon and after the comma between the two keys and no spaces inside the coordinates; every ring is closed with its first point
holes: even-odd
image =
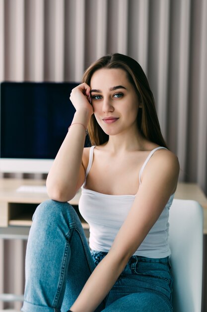
{"type": "Polygon", "coordinates": [[[171,152],[163,150],[153,155],[142,174],[142,182],[127,219],[109,253],[93,271],[70,308],[72,312],[93,312],[106,297],[174,193],[178,174],[178,159],[171,152]]]}

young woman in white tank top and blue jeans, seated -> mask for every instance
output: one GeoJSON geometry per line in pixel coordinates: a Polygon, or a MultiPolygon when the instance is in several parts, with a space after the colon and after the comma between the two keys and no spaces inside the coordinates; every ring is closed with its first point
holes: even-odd
{"type": "Polygon", "coordinates": [[[179,163],[146,76],[134,59],[107,55],[70,100],[76,112],[48,174],[51,200],[33,216],[22,311],[172,311],[168,215],[179,163]],[[67,203],[81,186],[89,246],[67,203]]]}

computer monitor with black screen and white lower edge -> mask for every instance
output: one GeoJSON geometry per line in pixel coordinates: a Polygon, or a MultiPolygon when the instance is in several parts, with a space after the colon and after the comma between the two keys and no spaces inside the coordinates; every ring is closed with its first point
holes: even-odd
{"type": "Polygon", "coordinates": [[[78,83],[0,84],[0,172],[48,173],[75,109],[78,83]]]}

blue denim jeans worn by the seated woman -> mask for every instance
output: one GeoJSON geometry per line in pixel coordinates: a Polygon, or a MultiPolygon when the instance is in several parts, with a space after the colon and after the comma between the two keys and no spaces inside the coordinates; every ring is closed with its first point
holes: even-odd
{"type": "MultiPolygon", "coordinates": [[[[40,204],[27,243],[22,311],[67,312],[105,255],[90,251],[80,220],[69,203],[47,200],[40,204]]],[[[132,256],[95,311],[170,312],[171,294],[168,257],[132,256]]]]}

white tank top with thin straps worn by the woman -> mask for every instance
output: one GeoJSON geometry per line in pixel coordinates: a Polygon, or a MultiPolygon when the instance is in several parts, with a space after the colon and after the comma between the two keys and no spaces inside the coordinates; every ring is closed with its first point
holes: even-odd
{"type": "MultiPolygon", "coordinates": [[[[93,162],[93,150],[90,148],[88,166],[85,172],[85,182],[93,162]]],[[[139,172],[139,184],[141,173],[155,151],[165,149],[158,147],[152,150],[144,161],[139,172]]],[[[112,243],[124,223],[136,195],[108,195],[90,189],[86,189],[85,182],[79,199],[79,211],[90,226],[89,246],[91,250],[108,252],[112,243]]],[[[170,196],[167,205],[163,209],[158,220],[142,241],[134,255],[148,258],[164,258],[171,254],[168,244],[169,209],[174,194],[170,196]]]]}

